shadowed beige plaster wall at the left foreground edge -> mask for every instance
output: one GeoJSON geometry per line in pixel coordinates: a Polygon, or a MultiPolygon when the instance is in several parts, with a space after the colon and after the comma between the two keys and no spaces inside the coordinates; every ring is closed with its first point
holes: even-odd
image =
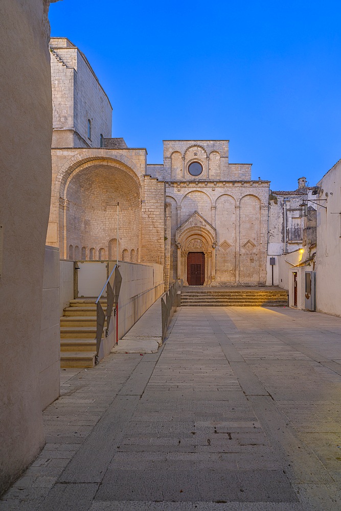
{"type": "Polygon", "coordinates": [[[0,3],[0,492],[44,444],[39,335],[52,133],[47,14],[42,0],[0,3]]]}

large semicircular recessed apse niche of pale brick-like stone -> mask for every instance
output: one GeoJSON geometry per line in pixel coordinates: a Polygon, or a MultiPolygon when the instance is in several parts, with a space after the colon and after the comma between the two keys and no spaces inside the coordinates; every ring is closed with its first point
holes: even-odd
{"type": "Polygon", "coordinates": [[[137,250],[141,234],[141,186],[134,172],[119,162],[95,160],[77,167],[61,183],[63,200],[60,239],[70,244],[108,247],[117,238],[119,203],[119,244],[137,250]]]}

